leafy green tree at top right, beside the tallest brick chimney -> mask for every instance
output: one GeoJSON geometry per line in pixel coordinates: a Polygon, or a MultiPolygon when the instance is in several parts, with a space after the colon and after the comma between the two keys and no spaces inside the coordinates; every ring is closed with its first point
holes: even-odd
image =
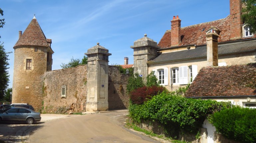
{"type": "Polygon", "coordinates": [[[251,26],[250,32],[256,33],[256,0],[242,0],[245,7],[242,9],[242,18],[251,26]]]}

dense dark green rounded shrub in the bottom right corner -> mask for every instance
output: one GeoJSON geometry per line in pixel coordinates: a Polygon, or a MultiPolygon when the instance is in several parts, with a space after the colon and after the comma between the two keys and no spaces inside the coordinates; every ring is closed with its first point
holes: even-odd
{"type": "Polygon", "coordinates": [[[256,109],[233,107],[216,112],[211,123],[227,138],[243,143],[256,141],[256,109]]]}

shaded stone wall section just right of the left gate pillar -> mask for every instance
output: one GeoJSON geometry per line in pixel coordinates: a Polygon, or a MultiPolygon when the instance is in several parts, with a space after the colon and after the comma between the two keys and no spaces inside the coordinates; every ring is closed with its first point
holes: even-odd
{"type": "Polygon", "coordinates": [[[109,66],[109,110],[128,108],[126,87],[129,76],[120,73],[118,67],[109,66]]]}

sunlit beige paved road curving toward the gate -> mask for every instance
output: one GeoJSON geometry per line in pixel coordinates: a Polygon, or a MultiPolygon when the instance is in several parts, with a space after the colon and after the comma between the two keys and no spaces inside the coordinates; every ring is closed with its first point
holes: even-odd
{"type": "Polygon", "coordinates": [[[126,129],[128,111],[71,116],[40,124],[26,142],[31,143],[158,143],[126,129]]]}

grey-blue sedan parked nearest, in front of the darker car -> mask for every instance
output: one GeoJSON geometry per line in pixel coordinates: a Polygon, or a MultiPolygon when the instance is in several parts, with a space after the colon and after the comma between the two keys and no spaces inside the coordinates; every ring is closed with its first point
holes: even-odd
{"type": "Polygon", "coordinates": [[[11,107],[0,113],[0,122],[26,122],[32,124],[41,120],[41,114],[24,107],[11,107]]]}

